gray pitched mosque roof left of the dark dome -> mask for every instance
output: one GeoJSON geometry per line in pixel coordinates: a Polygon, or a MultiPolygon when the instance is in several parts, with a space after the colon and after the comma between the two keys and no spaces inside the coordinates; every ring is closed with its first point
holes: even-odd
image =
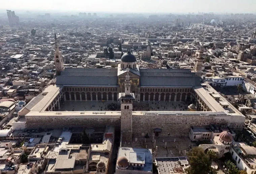
{"type": "Polygon", "coordinates": [[[65,68],[57,76],[57,85],[116,86],[117,69],[65,68]]]}

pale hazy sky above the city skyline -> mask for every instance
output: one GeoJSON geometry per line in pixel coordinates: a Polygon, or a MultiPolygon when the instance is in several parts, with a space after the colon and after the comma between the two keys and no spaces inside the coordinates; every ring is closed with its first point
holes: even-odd
{"type": "Polygon", "coordinates": [[[256,0],[0,0],[0,9],[136,13],[256,13],[256,0]]]}

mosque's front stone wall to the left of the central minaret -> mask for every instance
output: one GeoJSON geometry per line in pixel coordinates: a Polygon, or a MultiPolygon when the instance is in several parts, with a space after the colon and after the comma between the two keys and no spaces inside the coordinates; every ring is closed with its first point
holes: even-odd
{"type": "Polygon", "coordinates": [[[105,127],[120,129],[120,116],[25,116],[27,129],[63,129],[68,127],[105,127]]]}

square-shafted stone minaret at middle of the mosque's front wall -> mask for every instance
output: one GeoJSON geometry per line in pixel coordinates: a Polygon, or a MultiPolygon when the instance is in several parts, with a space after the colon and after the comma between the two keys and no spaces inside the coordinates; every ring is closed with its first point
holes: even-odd
{"type": "Polygon", "coordinates": [[[132,100],[134,100],[134,94],[130,93],[130,88],[129,68],[127,68],[125,93],[119,93],[119,100],[121,100],[122,141],[132,141],[132,100]]]}

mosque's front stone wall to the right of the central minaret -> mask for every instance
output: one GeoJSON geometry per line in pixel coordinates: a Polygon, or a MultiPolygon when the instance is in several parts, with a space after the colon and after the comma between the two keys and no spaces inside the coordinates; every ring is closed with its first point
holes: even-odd
{"type": "Polygon", "coordinates": [[[244,116],[133,115],[132,131],[133,137],[142,137],[147,133],[152,136],[153,129],[160,128],[160,137],[187,137],[191,126],[227,124],[232,129],[242,130],[244,121],[244,116]]]}

